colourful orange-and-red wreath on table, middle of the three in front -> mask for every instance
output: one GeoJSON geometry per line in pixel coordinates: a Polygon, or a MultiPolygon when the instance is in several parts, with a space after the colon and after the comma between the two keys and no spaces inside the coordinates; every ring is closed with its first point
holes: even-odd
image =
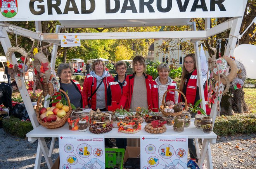
{"type": "Polygon", "coordinates": [[[141,130],[141,124],[136,124],[135,122],[130,122],[130,123],[124,123],[124,122],[119,122],[118,123],[118,132],[122,133],[137,133],[141,130]]]}

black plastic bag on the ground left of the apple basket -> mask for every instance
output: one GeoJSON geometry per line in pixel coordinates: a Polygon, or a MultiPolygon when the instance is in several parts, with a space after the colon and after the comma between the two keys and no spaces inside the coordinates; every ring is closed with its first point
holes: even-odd
{"type": "Polygon", "coordinates": [[[24,104],[16,104],[15,106],[13,106],[12,109],[9,111],[9,115],[17,117],[21,120],[29,119],[28,112],[24,104]]]}

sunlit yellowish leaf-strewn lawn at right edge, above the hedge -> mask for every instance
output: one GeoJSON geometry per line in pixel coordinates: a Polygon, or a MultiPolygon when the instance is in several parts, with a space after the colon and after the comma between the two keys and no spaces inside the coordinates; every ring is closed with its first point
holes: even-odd
{"type": "Polygon", "coordinates": [[[256,112],[256,88],[244,88],[244,99],[250,112],[256,112]]]}

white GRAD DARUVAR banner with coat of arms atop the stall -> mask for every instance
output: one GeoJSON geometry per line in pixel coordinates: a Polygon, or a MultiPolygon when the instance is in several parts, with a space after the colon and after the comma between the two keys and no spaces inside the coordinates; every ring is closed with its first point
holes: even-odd
{"type": "Polygon", "coordinates": [[[247,0],[2,0],[0,21],[239,17],[247,0]]]}

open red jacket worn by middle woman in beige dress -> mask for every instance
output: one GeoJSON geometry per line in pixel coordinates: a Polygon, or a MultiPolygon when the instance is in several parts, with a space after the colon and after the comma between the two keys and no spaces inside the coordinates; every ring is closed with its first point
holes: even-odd
{"type": "MultiPolygon", "coordinates": [[[[143,73],[144,74],[144,73],[143,73]]],[[[123,86],[123,94],[121,96],[121,100],[119,103],[119,106],[130,108],[131,106],[131,96],[133,93],[133,83],[134,83],[134,76],[135,73],[127,75],[126,76],[126,85],[123,86]]],[[[147,105],[149,106],[149,109],[154,108],[154,111],[158,111],[158,103],[156,101],[156,94],[153,90],[153,79],[152,76],[144,74],[145,76],[145,82],[146,82],[146,88],[147,88],[147,105]]]]}

